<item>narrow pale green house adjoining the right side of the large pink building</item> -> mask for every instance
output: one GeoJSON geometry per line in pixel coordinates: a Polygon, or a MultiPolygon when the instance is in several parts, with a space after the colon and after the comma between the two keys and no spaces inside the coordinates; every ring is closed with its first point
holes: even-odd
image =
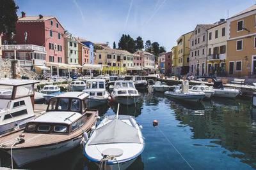
{"type": "Polygon", "coordinates": [[[65,63],[78,64],[78,42],[73,34],[65,34],[65,63]]]}

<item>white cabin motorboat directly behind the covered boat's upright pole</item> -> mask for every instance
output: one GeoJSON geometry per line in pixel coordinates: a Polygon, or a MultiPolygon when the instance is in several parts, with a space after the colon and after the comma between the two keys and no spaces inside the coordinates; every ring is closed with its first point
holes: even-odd
{"type": "Polygon", "coordinates": [[[115,103],[130,105],[138,102],[140,94],[132,81],[120,80],[115,82],[111,97],[115,103]]]}

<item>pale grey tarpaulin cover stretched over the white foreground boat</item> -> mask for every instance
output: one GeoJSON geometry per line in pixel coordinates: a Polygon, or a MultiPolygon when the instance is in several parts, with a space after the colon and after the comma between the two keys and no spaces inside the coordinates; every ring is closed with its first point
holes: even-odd
{"type": "Polygon", "coordinates": [[[95,136],[88,145],[109,143],[141,143],[138,130],[122,120],[114,119],[95,130],[95,136]]]}

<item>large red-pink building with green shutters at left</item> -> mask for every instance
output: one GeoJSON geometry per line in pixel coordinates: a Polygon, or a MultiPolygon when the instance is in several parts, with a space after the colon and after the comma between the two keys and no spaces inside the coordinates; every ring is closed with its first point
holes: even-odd
{"type": "MultiPolygon", "coordinates": [[[[54,16],[18,17],[16,34],[13,42],[17,45],[44,46],[46,62],[65,63],[64,28],[54,16]],[[27,35],[27,36],[26,36],[27,35]]],[[[10,38],[3,37],[5,44],[10,44],[10,38]]]]}

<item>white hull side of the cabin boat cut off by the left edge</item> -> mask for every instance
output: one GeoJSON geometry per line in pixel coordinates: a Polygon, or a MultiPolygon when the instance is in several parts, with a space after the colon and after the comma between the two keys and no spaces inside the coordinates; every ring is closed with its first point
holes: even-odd
{"type": "MultiPolygon", "coordinates": [[[[27,122],[29,120],[32,120],[33,118],[35,118],[35,115],[31,117],[22,118],[21,120],[17,120],[16,122],[19,125],[19,128],[23,128],[26,126],[27,122]]],[[[17,126],[16,122],[10,122],[8,124],[0,125],[0,134],[13,131],[13,129],[17,126]]]]}

